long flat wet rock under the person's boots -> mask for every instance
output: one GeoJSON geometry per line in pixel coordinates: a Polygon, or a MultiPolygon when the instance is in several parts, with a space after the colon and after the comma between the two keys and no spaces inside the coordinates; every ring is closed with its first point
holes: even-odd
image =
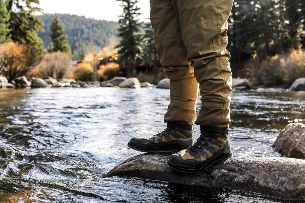
{"type": "Polygon", "coordinates": [[[174,184],[231,188],[277,198],[305,198],[305,160],[282,157],[229,159],[198,173],[179,173],[167,166],[170,155],[141,154],[104,177],[138,177],[174,184]]]}

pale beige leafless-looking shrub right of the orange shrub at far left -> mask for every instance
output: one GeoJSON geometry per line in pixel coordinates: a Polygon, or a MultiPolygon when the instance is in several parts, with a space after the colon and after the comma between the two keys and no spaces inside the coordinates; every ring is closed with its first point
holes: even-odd
{"type": "Polygon", "coordinates": [[[71,57],[67,53],[53,52],[45,54],[38,70],[41,78],[52,77],[54,79],[64,78],[70,66],[71,57]]]}

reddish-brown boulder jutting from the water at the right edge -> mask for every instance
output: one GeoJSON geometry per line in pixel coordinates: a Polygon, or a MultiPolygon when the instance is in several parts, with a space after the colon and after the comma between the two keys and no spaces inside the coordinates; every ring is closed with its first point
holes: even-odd
{"type": "Polygon", "coordinates": [[[280,132],[272,147],[283,156],[305,159],[305,124],[288,124],[280,132]]]}

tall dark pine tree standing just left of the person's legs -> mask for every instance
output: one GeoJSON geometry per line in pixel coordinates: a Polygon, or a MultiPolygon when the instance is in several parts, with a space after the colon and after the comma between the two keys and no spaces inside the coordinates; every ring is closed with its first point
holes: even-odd
{"type": "Polygon", "coordinates": [[[120,43],[116,48],[120,48],[118,54],[121,62],[133,64],[129,75],[135,75],[135,60],[142,52],[142,35],[140,33],[142,23],[137,19],[140,15],[140,9],[136,5],[138,0],[117,1],[122,2],[123,14],[119,16],[118,37],[120,37],[120,43]]]}

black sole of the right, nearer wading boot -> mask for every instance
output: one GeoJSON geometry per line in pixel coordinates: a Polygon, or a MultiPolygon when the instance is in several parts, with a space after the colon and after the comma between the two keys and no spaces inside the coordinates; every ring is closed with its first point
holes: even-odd
{"type": "Polygon", "coordinates": [[[182,173],[195,173],[195,172],[202,171],[202,170],[205,170],[205,169],[209,168],[214,163],[221,162],[221,161],[224,162],[224,161],[232,158],[232,156],[233,155],[232,155],[231,151],[227,152],[226,154],[219,156],[216,160],[214,160],[208,166],[203,166],[201,168],[196,168],[196,169],[195,168],[183,168],[183,166],[181,166],[179,164],[172,163],[170,161],[170,159],[167,160],[167,164],[168,164],[168,166],[170,166],[170,168],[172,168],[176,171],[182,172],[182,173]]]}

